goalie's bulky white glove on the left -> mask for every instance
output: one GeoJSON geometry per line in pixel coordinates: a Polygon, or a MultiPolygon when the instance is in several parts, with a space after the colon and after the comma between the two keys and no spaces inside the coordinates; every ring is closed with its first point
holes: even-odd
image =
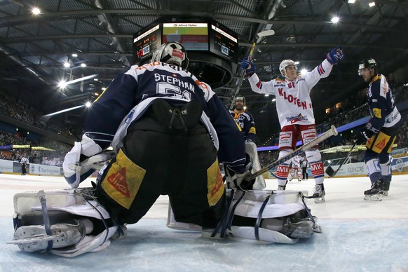
{"type": "Polygon", "coordinates": [[[114,157],[114,152],[102,153],[102,147],[96,144],[86,134],[81,142],[75,142],[74,147],[65,155],[62,169],[64,178],[72,188],[92,175],[98,166],[114,157]]]}

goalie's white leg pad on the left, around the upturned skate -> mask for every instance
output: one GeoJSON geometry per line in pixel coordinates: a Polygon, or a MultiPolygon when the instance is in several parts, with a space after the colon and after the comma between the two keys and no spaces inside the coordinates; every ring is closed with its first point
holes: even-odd
{"type": "MultiPolygon", "coordinates": [[[[79,236],[75,231],[67,230],[66,233],[69,233],[69,238],[64,238],[64,240],[67,243],[74,244],[69,247],[66,247],[65,243],[53,245],[50,253],[64,257],[75,257],[86,252],[95,252],[106,248],[110,243],[109,238],[116,233],[117,226],[101,205],[93,200],[91,196],[86,196],[88,191],[88,189],[67,189],[43,191],[42,193],[34,191],[15,194],[15,240],[11,243],[18,243],[16,242],[18,238],[30,238],[30,236],[31,238],[33,238],[32,236],[40,236],[44,239],[53,240],[53,243],[55,243],[54,237],[50,238],[46,237],[46,234],[44,235],[45,227],[43,225],[43,212],[39,196],[45,196],[52,230],[51,234],[54,233],[53,230],[62,229],[63,226],[59,224],[66,226],[68,224],[64,223],[72,222],[73,219],[88,218],[94,225],[96,224],[95,229],[93,229],[89,222],[84,220],[82,223],[86,224],[83,229],[87,235],[84,236],[80,232],[81,238],[79,241],[77,241],[79,236]],[[44,229],[43,233],[40,231],[41,229],[44,229]],[[21,234],[24,231],[26,231],[26,234],[21,234]]],[[[66,237],[65,234],[63,237],[66,237]]],[[[38,242],[34,240],[34,243],[38,242]]],[[[43,247],[43,245],[37,246],[37,250],[41,250],[41,247],[43,247]]],[[[22,250],[27,251],[25,248],[22,250]]]]}

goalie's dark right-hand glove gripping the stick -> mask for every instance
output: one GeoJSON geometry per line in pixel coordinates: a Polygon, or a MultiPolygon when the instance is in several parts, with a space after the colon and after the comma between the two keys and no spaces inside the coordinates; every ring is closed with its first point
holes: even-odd
{"type": "Polygon", "coordinates": [[[242,174],[234,172],[233,170],[231,170],[231,168],[229,168],[228,165],[226,166],[225,168],[226,188],[228,189],[240,188],[244,190],[252,190],[252,185],[254,184],[256,177],[248,181],[245,180],[245,182],[243,182],[243,179],[245,179],[245,177],[248,177],[251,175],[251,170],[252,170],[251,158],[248,154],[245,154],[245,155],[246,155],[245,156],[245,172],[243,172],[242,174]]]}

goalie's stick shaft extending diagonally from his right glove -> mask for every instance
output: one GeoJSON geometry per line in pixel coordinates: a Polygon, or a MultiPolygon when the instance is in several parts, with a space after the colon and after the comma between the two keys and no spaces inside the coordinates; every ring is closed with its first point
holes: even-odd
{"type": "Polygon", "coordinates": [[[290,158],[293,158],[297,154],[301,154],[301,152],[304,152],[305,150],[310,149],[311,147],[315,146],[316,144],[319,144],[320,142],[323,142],[324,140],[328,139],[329,137],[336,136],[338,134],[336,127],[332,125],[332,127],[324,132],[322,135],[319,137],[315,138],[315,140],[312,140],[311,142],[308,142],[307,144],[304,144],[303,146],[299,147],[298,149],[290,152],[290,154],[287,154],[283,158],[278,159],[277,161],[274,161],[270,165],[266,165],[264,168],[257,172],[253,172],[251,175],[245,177],[243,179],[243,182],[248,182],[251,179],[254,179],[254,177],[257,177],[261,174],[264,174],[264,172],[271,170],[272,168],[280,165],[280,163],[285,163],[285,161],[289,160],[290,158]]]}

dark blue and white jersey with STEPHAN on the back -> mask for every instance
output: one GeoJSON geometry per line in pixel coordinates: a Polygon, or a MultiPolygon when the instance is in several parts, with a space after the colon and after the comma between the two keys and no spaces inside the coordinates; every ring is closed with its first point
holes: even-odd
{"type": "Polygon", "coordinates": [[[208,84],[198,81],[190,72],[164,62],[135,65],[116,76],[93,102],[86,118],[86,133],[92,133],[93,140],[102,149],[109,147],[115,135],[115,138],[123,137],[125,132],[118,129],[124,130],[123,124],[137,120],[157,98],[171,104],[191,100],[200,102],[204,112],[201,120],[212,135],[219,162],[230,165],[236,172],[244,171],[243,135],[224,104],[208,84]]]}

